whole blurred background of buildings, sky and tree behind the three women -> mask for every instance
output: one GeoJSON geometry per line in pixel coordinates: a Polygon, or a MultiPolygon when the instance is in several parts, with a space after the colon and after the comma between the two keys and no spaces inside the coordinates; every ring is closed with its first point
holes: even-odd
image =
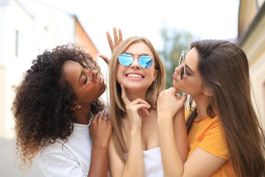
{"type": "MultiPolygon", "coordinates": [[[[111,57],[105,31],[121,28],[123,38],[145,36],[167,68],[167,86],[179,53],[197,39],[225,39],[246,52],[261,124],[265,120],[264,0],[0,0],[0,171],[3,176],[43,176],[37,163],[19,171],[12,85],[44,50],[77,43],[98,62],[105,78],[111,57]]],[[[107,79],[105,79],[107,80],[107,79]]],[[[108,82],[107,82],[108,84],[108,82]]],[[[102,99],[107,101],[104,93],[102,99]]]]}

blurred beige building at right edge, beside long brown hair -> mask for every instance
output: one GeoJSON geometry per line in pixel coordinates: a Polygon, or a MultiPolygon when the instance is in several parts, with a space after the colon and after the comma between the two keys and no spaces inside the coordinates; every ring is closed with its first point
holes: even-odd
{"type": "Polygon", "coordinates": [[[257,105],[256,112],[259,115],[262,127],[265,129],[264,0],[240,1],[238,22],[238,43],[249,61],[249,73],[253,88],[252,101],[254,105],[257,105]]]}

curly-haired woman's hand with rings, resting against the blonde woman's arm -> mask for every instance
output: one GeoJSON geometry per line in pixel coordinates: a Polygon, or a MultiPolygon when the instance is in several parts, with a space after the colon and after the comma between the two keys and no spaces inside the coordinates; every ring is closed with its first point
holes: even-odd
{"type": "Polygon", "coordinates": [[[90,136],[93,144],[99,147],[108,147],[112,135],[112,124],[107,110],[96,114],[90,127],[90,136]]]}

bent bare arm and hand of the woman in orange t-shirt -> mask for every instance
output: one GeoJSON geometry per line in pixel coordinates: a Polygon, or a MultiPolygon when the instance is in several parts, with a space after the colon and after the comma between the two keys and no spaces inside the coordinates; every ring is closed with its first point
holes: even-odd
{"type": "MultiPolygon", "coordinates": [[[[165,176],[209,176],[220,168],[226,159],[196,148],[185,163],[177,147],[173,128],[173,117],[178,113],[185,98],[175,99],[177,90],[161,93],[157,101],[158,127],[160,131],[161,155],[165,176]]],[[[181,113],[181,112],[179,112],[181,113]]],[[[182,114],[182,113],[181,113],[182,114]]],[[[178,116],[183,116],[177,114],[178,116]]],[[[182,131],[184,131],[182,129],[182,131]]],[[[186,145],[185,145],[186,147],[186,145]]]]}

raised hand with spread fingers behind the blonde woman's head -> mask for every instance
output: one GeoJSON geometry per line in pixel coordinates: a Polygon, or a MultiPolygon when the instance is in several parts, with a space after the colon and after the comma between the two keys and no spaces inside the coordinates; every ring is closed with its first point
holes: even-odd
{"type": "MultiPolygon", "coordinates": [[[[116,47],[122,42],[122,30],[118,29],[118,31],[119,31],[119,36],[117,33],[117,29],[115,27],[113,27],[114,43],[113,43],[110,32],[109,31],[106,32],[112,54],[113,54],[114,50],[116,49],[116,47]]],[[[102,54],[100,54],[98,56],[101,57],[107,64],[110,62],[110,59],[108,57],[106,57],[102,54]]]]}

